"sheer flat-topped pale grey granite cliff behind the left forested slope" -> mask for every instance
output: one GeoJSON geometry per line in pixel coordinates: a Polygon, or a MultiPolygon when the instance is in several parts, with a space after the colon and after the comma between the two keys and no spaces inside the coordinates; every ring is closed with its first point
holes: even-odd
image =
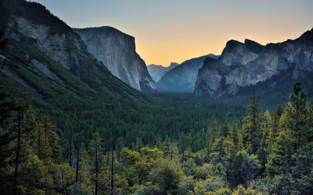
{"type": "Polygon", "coordinates": [[[141,91],[159,90],[144,60],[136,53],[134,37],[109,26],[73,30],[86,44],[88,52],[113,75],[141,91]]]}

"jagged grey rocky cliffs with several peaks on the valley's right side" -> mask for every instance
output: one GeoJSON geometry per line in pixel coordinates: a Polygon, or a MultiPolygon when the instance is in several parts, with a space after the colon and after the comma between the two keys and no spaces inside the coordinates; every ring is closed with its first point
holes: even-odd
{"type": "Polygon", "coordinates": [[[229,41],[218,60],[207,59],[199,69],[196,96],[235,94],[238,87],[263,82],[283,70],[293,79],[313,72],[313,29],[295,40],[261,46],[253,41],[229,41]]]}

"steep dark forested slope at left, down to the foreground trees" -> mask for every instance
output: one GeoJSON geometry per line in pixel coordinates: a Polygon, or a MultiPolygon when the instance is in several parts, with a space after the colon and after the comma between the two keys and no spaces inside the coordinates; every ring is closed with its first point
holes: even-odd
{"type": "Polygon", "coordinates": [[[8,37],[0,48],[0,57],[8,59],[0,70],[0,92],[11,98],[27,92],[36,117],[49,116],[57,126],[62,147],[70,145],[70,129],[76,145],[88,143],[95,131],[107,145],[134,134],[128,130],[135,129],[139,107],[150,99],[112,75],[43,5],[0,1],[0,28],[8,37]]]}

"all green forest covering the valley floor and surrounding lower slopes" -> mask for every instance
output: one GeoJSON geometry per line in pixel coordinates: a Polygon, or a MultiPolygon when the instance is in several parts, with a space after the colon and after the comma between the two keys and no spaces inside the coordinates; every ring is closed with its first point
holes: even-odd
{"type": "Polygon", "coordinates": [[[219,97],[143,94],[71,44],[79,68],[66,69],[16,28],[6,38],[11,15],[72,31],[39,3],[0,1],[0,194],[313,194],[312,73],[219,97]]]}

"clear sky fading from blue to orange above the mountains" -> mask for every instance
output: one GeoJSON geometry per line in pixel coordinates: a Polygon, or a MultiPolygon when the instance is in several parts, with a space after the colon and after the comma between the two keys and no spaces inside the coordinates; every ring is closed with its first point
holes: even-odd
{"type": "Polygon", "coordinates": [[[262,45],[313,28],[313,0],[34,0],[75,28],[112,26],[135,37],[147,65],[208,54],[227,41],[262,45]]]}

